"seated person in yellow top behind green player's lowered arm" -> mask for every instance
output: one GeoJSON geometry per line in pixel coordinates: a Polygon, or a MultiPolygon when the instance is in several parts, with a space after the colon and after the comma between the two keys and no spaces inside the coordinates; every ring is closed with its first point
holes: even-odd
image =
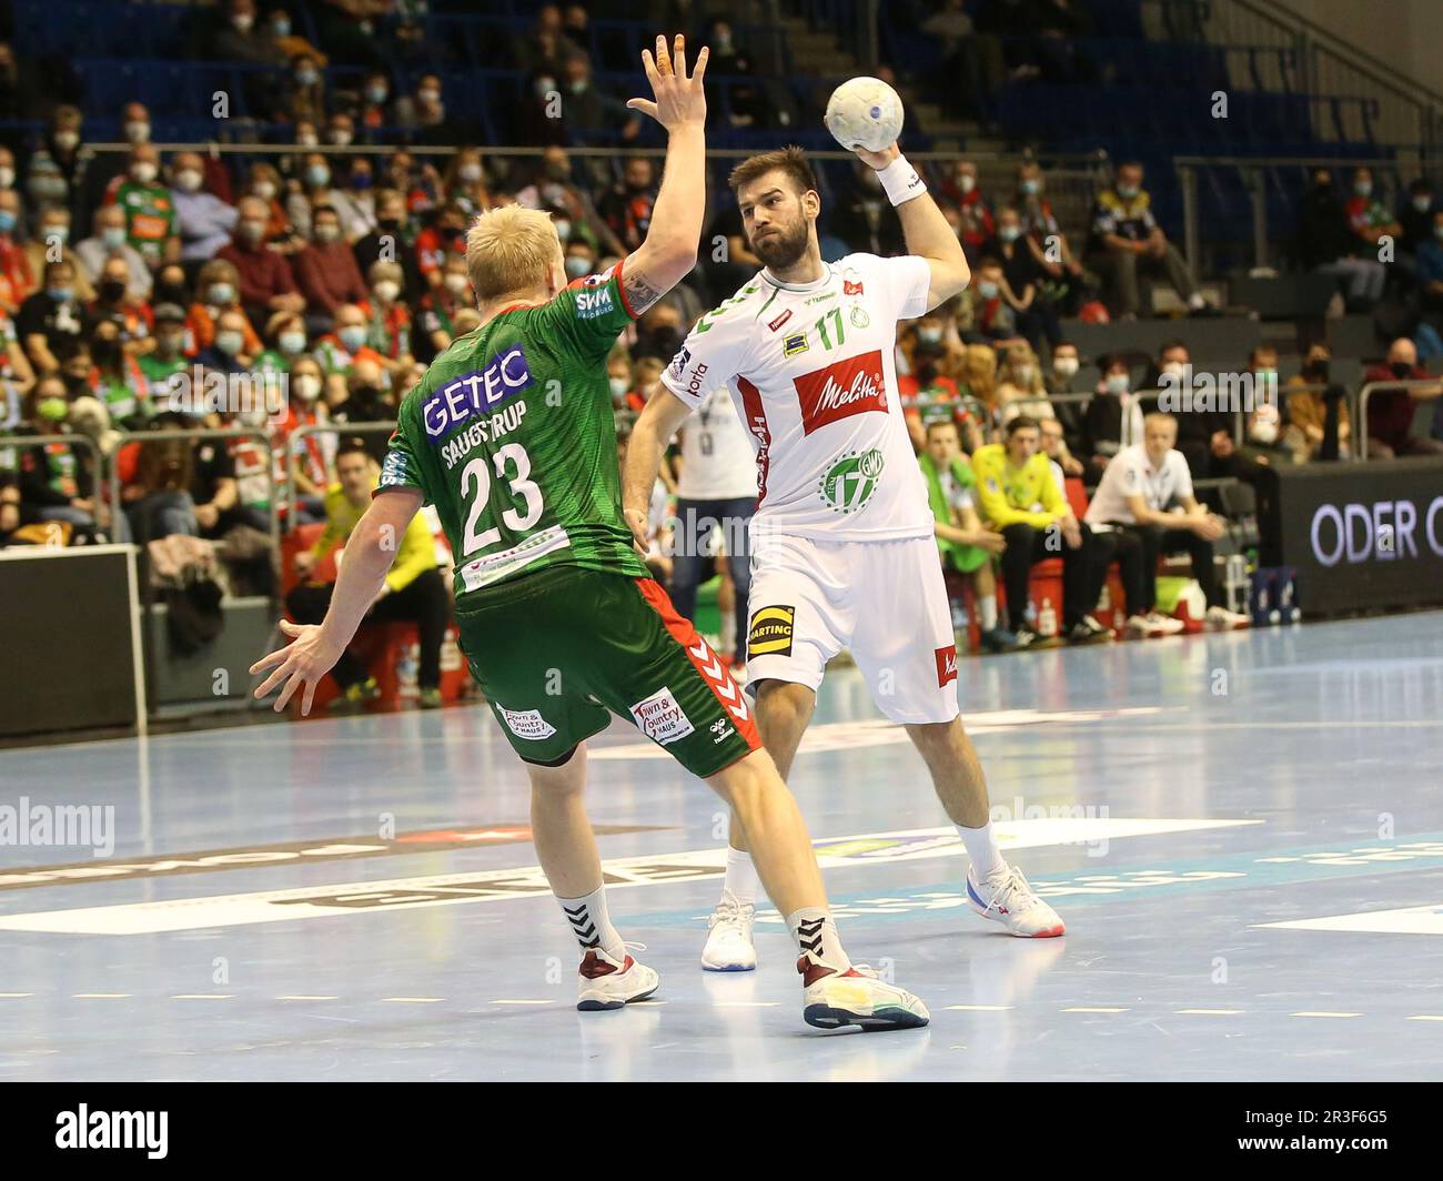
{"type": "MultiPolygon", "coordinates": [[[[296,554],[296,570],[304,579],[316,563],[335,546],[343,546],[371,507],[371,492],[381,478],[381,468],[371,458],[361,439],[348,439],[336,452],[336,484],[326,492],[326,528],[310,550],[296,554]]],[[[297,624],[319,624],[326,618],[333,582],[302,582],[286,596],[286,609],[297,624]]],[[[421,689],[421,709],[442,703],[442,641],[450,624],[450,599],[446,583],[436,570],[436,543],[420,514],[401,534],[395,565],[391,566],[381,593],[377,595],[368,619],[375,622],[405,621],[420,631],[421,651],[417,681],[421,689]]],[[[345,690],[352,705],[380,696],[375,677],[349,651],[341,654],[332,671],[336,684],[345,690]]]]}

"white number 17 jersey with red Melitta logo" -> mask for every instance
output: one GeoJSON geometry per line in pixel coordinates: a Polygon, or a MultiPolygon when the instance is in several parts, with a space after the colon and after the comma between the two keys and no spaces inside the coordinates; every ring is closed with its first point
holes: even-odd
{"type": "Polygon", "coordinates": [[[756,455],[756,526],[823,541],[931,537],[902,417],[896,326],[926,310],[915,256],[848,254],[815,283],[760,271],[691,329],[662,381],[696,409],[732,393],[756,455]]]}

